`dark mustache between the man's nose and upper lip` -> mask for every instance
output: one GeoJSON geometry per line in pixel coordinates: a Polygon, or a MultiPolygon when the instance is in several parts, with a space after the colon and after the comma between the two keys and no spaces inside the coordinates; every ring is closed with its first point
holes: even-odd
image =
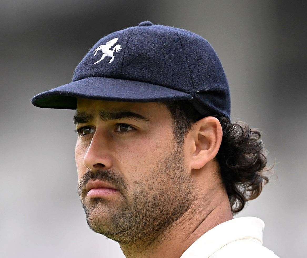
{"type": "Polygon", "coordinates": [[[117,189],[126,189],[125,181],[122,177],[119,176],[114,170],[102,170],[98,169],[91,171],[90,169],[82,176],[78,182],[78,192],[82,195],[85,192],[86,184],[89,180],[99,179],[114,185],[117,189]]]}

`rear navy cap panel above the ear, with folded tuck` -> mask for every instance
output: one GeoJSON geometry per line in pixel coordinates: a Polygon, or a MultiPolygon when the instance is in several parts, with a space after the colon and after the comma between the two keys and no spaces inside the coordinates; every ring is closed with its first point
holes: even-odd
{"type": "Polygon", "coordinates": [[[230,91],[226,75],[216,52],[200,35],[172,28],[180,37],[188,62],[195,94],[193,97],[209,110],[230,117],[230,91]]]}

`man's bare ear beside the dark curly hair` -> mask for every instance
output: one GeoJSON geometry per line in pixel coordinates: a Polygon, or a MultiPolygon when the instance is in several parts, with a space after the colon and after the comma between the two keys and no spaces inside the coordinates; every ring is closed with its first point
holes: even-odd
{"type": "Polygon", "coordinates": [[[220,121],[216,117],[204,117],[193,124],[188,137],[191,169],[200,169],[219,151],[223,137],[220,121]]]}

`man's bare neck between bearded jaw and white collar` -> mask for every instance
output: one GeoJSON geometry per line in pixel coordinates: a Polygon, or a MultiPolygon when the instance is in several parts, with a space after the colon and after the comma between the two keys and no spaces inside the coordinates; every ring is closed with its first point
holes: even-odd
{"type": "Polygon", "coordinates": [[[133,245],[120,244],[127,258],[180,258],[190,245],[216,225],[233,219],[227,193],[222,189],[214,196],[202,193],[193,206],[153,240],[133,245]]]}

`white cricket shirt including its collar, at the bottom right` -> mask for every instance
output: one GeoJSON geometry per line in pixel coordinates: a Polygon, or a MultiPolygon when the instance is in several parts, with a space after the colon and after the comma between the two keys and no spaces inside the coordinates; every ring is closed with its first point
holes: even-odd
{"type": "Polygon", "coordinates": [[[234,218],[204,233],[180,258],[279,258],[262,246],[263,231],[260,218],[234,218]]]}

